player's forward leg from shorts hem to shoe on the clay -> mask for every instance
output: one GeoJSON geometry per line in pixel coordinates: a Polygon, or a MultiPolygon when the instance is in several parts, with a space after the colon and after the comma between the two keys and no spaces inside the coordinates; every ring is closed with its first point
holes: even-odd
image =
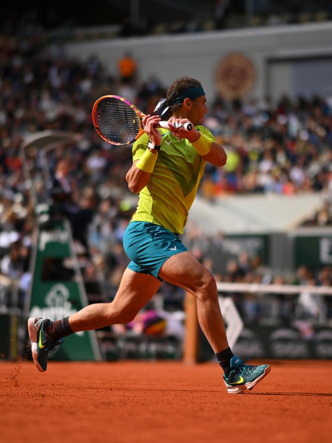
{"type": "Polygon", "coordinates": [[[199,324],[224,369],[224,382],[229,393],[238,394],[252,389],[270,372],[268,364],[245,364],[248,359],[241,360],[233,355],[227,342],[215,279],[190,252],[169,257],[161,267],[159,276],[196,297],[199,324]]]}

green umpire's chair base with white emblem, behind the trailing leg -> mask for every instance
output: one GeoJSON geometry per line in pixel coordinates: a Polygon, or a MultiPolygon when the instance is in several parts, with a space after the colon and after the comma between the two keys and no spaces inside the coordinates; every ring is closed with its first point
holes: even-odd
{"type": "MultiPolygon", "coordinates": [[[[28,297],[28,317],[59,320],[87,305],[70,227],[53,221],[35,233],[33,280],[28,297]]],[[[95,332],[77,332],[50,353],[55,360],[99,360],[95,332]]]]}

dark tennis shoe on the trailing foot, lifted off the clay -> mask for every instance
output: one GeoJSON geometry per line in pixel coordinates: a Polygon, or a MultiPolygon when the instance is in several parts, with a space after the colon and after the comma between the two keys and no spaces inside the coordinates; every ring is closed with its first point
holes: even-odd
{"type": "Polygon", "coordinates": [[[47,328],[51,324],[49,319],[33,319],[28,320],[28,331],[31,340],[32,358],[37,366],[38,371],[45,372],[47,369],[47,357],[50,351],[55,349],[55,346],[63,343],[61,338],[58,341],[52,340],[48,335],[47,328]]]}

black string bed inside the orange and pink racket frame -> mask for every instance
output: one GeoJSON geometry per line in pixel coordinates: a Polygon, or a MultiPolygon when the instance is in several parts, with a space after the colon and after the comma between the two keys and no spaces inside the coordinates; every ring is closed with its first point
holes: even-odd
{"type": "Polygon", "coordinates": [[[100,132],[111,143],[130,143],[140,131],[138,115],[121,100],[115,98],[101,100],[95,116],[100,132]]]}

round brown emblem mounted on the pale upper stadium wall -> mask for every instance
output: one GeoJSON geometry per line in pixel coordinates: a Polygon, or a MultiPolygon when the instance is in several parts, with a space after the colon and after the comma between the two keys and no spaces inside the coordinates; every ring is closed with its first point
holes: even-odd
{"type": "Polygon", "coordinates": [[[245,96],[255,82],[255,68],[243,54],[229,54],[218,64],[216,86],[222,97],[234,100],[245,96]]]}

